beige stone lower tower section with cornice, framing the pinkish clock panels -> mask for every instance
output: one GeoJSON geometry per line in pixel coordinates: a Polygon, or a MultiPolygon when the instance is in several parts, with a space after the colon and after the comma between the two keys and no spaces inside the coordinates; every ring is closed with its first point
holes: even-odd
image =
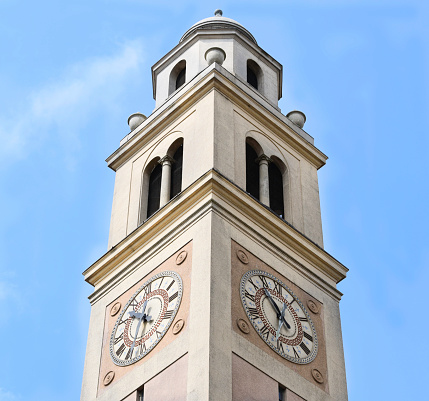
{"type": "MultiPolygon", "coordinates": [[[[160,372],[166,372],[184,355],[188,360],[188,401],[232,400],[234,355],[264,372],[267,382],[280,383],[304,400],[347,399],[340,294],[334,278],[345,270],[286,223],[252,199],[240,198],[240,194],[242,191],[222,176],[205,175],[185,189],[183,197],[167,204],[85,272],[95,290],[90,297],[82,400],[122,400],[160,372]],[[190,243],[192,268],[190,286],[184,289],[184,297],[189,297],[185,329],[171,342],[166,337],[165,343],[162,340],[151,351],[152,356],[149,354],[122,376],[118,373],[108,391],[98,392],[101,372],[105,373],[100,366],[103,337],[110,331],[105,329],[108,306],[190,243]],[[312,383],[308,372],[271,355],[265,344],[250,341],[237,332],[233,305],[240,300],[233,279],[233,272],[238,273],[231,258],[233,243],[251,251],[258,263],[275,270],[293,288],[301,289],[322,305],[323,319],[318,324],[323,328],[319,327],[318,332],[324,336],[326,346],[326,351],[320,353],[326,355],[324,386],[312,383]]],[[[179,313],[183,312],[179,309],[179,313]]],[[[236,384],[240,388],[241,384],[236,384]]]]}

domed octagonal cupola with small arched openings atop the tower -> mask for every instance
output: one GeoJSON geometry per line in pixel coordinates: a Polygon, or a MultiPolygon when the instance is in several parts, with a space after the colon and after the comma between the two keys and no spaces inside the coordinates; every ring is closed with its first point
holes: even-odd
{"type": "Polygon", "coordinates": [[[244,82],[256,98],[278,108],[282,95],[282,66],[261,49],[253,35],[221,10],[192,25],[179,44],[152,67],[156,108],[195,83],[213,63],[229,79],[244,82]],[[229,73],[229,74],[228,74],[229,73]],[[231,75],[232,74],[232,77],[231,75]]]}

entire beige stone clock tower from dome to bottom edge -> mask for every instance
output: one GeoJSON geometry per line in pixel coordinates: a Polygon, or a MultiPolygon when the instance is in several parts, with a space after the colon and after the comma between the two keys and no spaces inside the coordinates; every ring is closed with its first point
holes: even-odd
{"type": "Polygon", "coordinates": [[[282,66],[217,10],[152,67],[134,114],[94,286],[83,401],[347,399],[317,170],[284,116],[282,66]]]}

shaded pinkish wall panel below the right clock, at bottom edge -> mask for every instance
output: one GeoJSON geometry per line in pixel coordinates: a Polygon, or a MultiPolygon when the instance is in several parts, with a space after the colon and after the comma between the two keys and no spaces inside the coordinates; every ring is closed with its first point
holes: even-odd
{"type": "Polygon", "coordinates": [[[278,383],[244,359],[232,354],[232,399],[278,401],[278,383]]]}

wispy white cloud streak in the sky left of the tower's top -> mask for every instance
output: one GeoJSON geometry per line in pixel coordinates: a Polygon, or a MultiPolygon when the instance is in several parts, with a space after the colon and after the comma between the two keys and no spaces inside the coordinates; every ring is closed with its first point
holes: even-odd
{"type": "Polygon", "coordinates": [[[0,114],[0,158],[6,162],[25,158],[53,133],[68,152],[79,149],[77,128],[95,109],[114,107],[142,63],[142,44],[132,41],[117,54],[73,65],[61,77],[30,93],[12,115],[0,114]]]}

